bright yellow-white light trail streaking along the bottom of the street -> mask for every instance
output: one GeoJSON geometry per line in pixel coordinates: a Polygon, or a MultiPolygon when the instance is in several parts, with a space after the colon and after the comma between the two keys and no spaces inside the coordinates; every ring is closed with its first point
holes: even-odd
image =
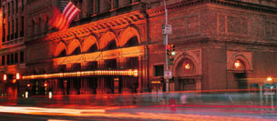
{"type": "MultiPolygon", "coordinates": [[[[132,106],[134,107],[134,106],[132,106]]],[[[100,108],[102,108],[100,106],[100,108]]],[[[108,107],[105,107],[108,109],[108,107]]],[[[119,107],[118,107],[119,108],[119,107]]],[[[131,108],[131,107],[130,107],[131,108]]],[[[115,108],[114,108],[115,109],[115,108]]],[[[68,109],[68,108],[44,108],[44,107],[29,107],[29,106],[0,106],[0,112],[25,114],[25,115],[39,115],[39,116],[88,116],[88,117],[112,117],[112,118],[136,118],[141,120],[228,120],[228,121],[261,121],[273,120],[263,119],[257,117],[243,117],[243,116],[208,116],[208,115],[190,115],[190,114],[170,114],[170,113],[148,113],[148,112],[107,112],[105,109],[68,109]]]]}

